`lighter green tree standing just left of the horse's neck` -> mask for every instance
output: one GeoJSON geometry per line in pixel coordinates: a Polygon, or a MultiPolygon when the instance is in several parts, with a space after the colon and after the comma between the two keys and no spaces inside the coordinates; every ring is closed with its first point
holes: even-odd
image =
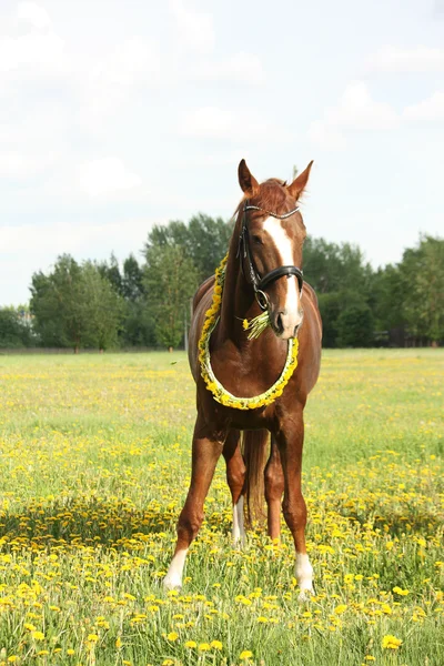
{"type": "Polygon", "coordinates": [[[147,250],[143,284],[157,342],[176,347],[183,336],[190,299],[198,286],[198,272],[179,245],[151,245],[147,250]]]}

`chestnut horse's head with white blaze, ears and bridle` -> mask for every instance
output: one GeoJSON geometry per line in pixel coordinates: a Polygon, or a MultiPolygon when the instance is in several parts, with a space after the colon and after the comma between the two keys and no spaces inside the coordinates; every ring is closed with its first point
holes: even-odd
{"type": "Polygon", "coordinates": [[[239,164],[244,192],[240,205],[240,261],[258,303],[269,310],[279,337],[294,337],[302,324],[302,246],[305,225],[297,200],[313,162],[287,185],[278,179],[259,184],[245,160],[239,164]]]}

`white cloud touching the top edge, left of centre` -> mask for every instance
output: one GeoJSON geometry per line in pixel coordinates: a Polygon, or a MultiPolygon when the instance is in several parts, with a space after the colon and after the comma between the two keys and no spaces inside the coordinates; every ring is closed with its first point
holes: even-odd
{"type": "Polygon", "coordinates": [[[209,53],[214,49],[213,17],[190,9],[183,0],[170,0],[180,41],[192,51],[209,53]]]}

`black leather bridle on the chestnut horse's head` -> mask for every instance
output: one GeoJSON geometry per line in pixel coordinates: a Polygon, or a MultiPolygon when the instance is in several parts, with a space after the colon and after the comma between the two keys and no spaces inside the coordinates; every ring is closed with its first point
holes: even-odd
{"type": "MultiPolygon", "coordinates": [[[[241,256],[241,253],[243,250],[243,259],[246,260],[249,278],[250,278],[251,284],[254,289],[255,299],[259,303],[259,306],[262,310],[266,310],[269,306],[269,296],[266,295],[264,290],[272,282],[274,282],[275,280],[279,280],[280,278],[283,278],[284,275],[286,275],[287,278],[290,278],[291,275],[294,275],[297,279],[299,289],[300,289],[300,291],[302,291],[302,285],[304,283],[304,275],[303,275],[302,270],[299,269],[297,266],[279,266],[278,269],[273,269],[272,271],[270,271],[262,278],[259,275],[256,268],[254,265],[253,258],[251,255],[250,241],[249,241],[249,228],[246,225],[246,211],[262,211],[262,212],[266,213],[268,215],[271,215],[272,218],[276,218],[278,220],[286,220],[286,218],[291,218],[291,215],[293,215],[294,213],[296,213],[299,211],[299,206],[296,206],[289,213],[284,213],[283,215],[278,215],[278,213],[272,213],[271,211],[262,209],[259,205],[249,205],[248,199],[245,200],[245,203],[243,206],[242,229],[241,229],[241,234],[239,236],[238,256],[241,256]]],[[[242,258],[241,258],[241,266],[242,266],[242,272],[243,272],[242,258]]]]}

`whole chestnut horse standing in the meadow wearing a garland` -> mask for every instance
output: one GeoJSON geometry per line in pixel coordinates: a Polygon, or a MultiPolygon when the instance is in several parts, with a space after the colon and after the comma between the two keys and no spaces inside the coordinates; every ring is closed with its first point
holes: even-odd
{"type": "Polygon", "coordinates": [[[280,538],[282,503],[294,541],[300,597],[313,594],[301,471],[303,411],[320,372],[322,322],[315,292],[303,281],[306,231],[299,208],[312,164],[290,184],[279,179],[259,184],[245,161],[239,164],[243,199],[234,214],[226,263],[219,271],[219,282],[215,276],[208,279],[193,300],[189,362],[196,384],[198,415],[191,482],[176,526],[175,551],[163,581],[167,589],[182,587],[186,553],[202,524],[203,504],[222,454],[233,505],[234,542],[244,541],[244,509],[251,518],[262,506],[264,491],[268,534],[272,539],[280,538]],[[219,319],[210,325],[205,320],[209,314],[214,319],[212,304],[218,299],[219,319]],[[269,325],[259,337],[249,339],[245,323],[261,313],[269,325]],[[202,335],[206,335],[206,346],[202,335]],[[282,379],[290,345],[296,342],[297,365],[282,379]],[[205,353],[213,382],[204,376],[205,353]],[[215,385],[225,396],[222,401],[215,385]],[[255,401],[254,396],[266,396],[272,385],[280,389],[268,400],[255,401]],[[245,408],[248,401],[251,404],[245,408]]]}

